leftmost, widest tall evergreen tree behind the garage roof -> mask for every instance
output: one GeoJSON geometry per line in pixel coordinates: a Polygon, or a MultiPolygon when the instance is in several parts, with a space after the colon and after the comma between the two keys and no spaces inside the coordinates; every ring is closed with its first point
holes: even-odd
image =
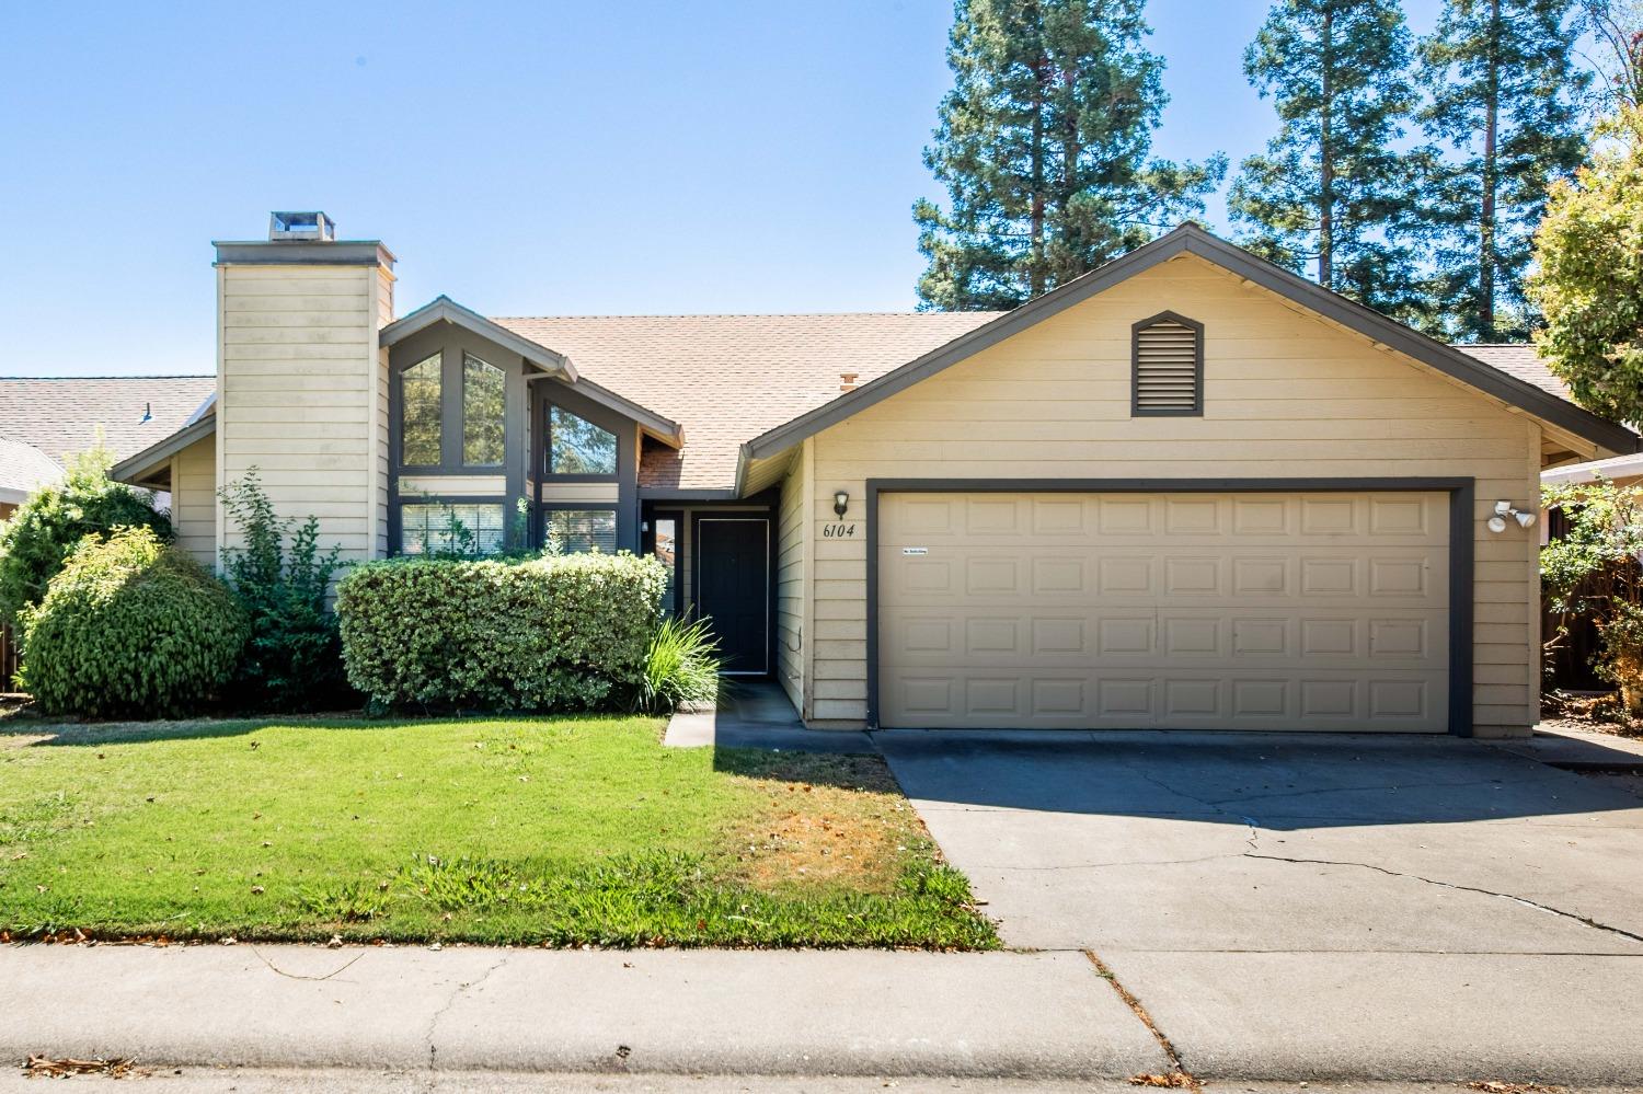
{"type": "Polygon", "coordinates": [[[1224,171],[1153,159],[1168,102],[1144,0],[956,0],[914,220],[922,307],[1007,309],[1203,210],[1224,171]]]}

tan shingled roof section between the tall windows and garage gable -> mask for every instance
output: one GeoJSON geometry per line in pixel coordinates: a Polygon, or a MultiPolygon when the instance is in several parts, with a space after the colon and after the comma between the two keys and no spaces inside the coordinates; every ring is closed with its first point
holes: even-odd
{"type": "Polygon", "coordinates": [[[999,312],[828,315],[544,315],[493,322],[552,347],[593,381],[680,422],[685,445],[646,445],[639,486],[718,491],[741,444],[858,383],[946,345],[999,312]]]}

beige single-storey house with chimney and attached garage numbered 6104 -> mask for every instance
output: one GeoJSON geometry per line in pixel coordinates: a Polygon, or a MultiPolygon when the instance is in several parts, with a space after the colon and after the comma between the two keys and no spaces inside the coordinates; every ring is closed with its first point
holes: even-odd
{"type": "MultiPolygon", "coordinates": [[[[1516,734],[1543,467],[1638,435],[1181,227],[1007,314],[394,307],[322,214],[217,243],[214,402],[117,473],[235,542],[670,558],[807,724],[1516,734]]],[[[1480,360],[1482,358],[1482,360],[1480,360]]]]}

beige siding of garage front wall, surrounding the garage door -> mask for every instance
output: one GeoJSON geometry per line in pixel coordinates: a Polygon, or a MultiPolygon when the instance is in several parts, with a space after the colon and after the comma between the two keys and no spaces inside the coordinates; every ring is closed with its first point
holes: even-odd
{"type": "Polygon", "coordinates": [[[1181,256],[1124,281],[812,439],[810,710],[866,718],[864,536],[822,539],[833,491],[869,478],[1474,476],[1477,733],[1536,721],[1536,537],[1490,534],[1497,499],[1538,496],[1539,427],[1415,361],[1181,256]],[[1206,327],[1203,417],[1130,416],[1130,325],[1206,327]]]}

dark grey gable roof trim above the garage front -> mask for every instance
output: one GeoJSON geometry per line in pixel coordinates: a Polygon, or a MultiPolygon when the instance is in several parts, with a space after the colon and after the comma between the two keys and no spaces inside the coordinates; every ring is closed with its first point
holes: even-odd
{"type": "Polygon", "coordinates": [[[1004,312],[989,322],[971,329],[951,343],[938,347],[917,360],[881,375],[877,379],[841,394],[826,404],[812,407],[795,416],[782,425],[756,435],[741,448],[738,463],[738,485],[743,481],[746,465],[751,460],[775,457],[805,437],[841,422],[853,414],[887,399],[889,396],[910,388],[912,384],[933,376],[945,368],[964,361],[987,347],[997,345],[1004,338],[1019,333],[1058,312],[1079,304],[1098,292],[1102,292],[1127,278],[1178,255],[1193,255],[1203,261],[1221,266],[1245,281],[1275,292],[1347,330],[1354,330],[1375,345],[1403,353],[1439,373],[1452,376],[1479,391],[1490,394],[1508,406],[1533,414],[1535,417],[1564,429],[1577,437],[1584,437],[1602,448],[1617,453],[1638,450],[1638,435],[1625,425],[1602,419],[1585,411],[1562,396],[1546,391],[1531,381],[1521,379],[1510,371],[1493,368],[1480,358],[1428,338],[1426,335],[1405,327],[1395,319],[1364,307],[1337,292],[1324,289],[1282,266],[1260,260],[1240,246],[1219,240],[1194,223],[1183,223],[1168,235],[1163,235],[1145,246],[1121,255],[1089,273],[1073,278],[1066,284],[1045,292],[1040,297],[1022,304],[1015,310],[1004,312]]]}

